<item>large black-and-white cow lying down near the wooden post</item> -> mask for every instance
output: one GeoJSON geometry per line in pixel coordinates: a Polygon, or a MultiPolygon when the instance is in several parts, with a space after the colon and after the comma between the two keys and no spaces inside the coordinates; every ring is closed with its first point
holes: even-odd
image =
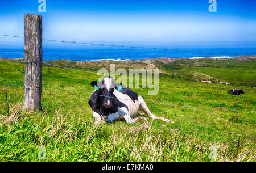
{"type": "Polygon", "coordinates": [[[95,90],[88,103],[97,123],[101,123],[102,120],[111,123],[120,119],[125,119],[126,123],[137,123],[140,119],[145,120],[143,117],[137,117],[139,110],[152,119],[173,123],[171,120],[152,114],[139,94],[121,83],[115,83],[110,76],[104,77],[100,82],[93,81],[90,85],[95,90]]]}

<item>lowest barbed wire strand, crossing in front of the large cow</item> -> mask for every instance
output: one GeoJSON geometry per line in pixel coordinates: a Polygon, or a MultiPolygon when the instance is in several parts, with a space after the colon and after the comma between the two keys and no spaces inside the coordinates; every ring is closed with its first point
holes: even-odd
{"type": "MultiPolygon", "coordinates": [[[[13,84],[10,84],[10,85],[13,86],[13,84]]],[[[3,85],[0,85],[0,86],[8,86],[8,84],[3,84],[3,85]]],[[[23,86],[23,85],[16,85],[16,86],[23,86]]],[[[69,91],[73,91],[73,92],[80,92],[82,94],[91,94],[91,95],[103,96],[105,98],[113,98],[113,99],[118,99],[118,100],[129,100],[131,102],[136,102],[137,101],[137,102],[146,103],[146,104],[149,103],[149,104],[159,104],[159,105],[166,105],[166,106],[175,106],[175,107],[184,107],[184,108],[195,108],[195,109],[220,110],[220,111],[254,112],[254,113],[256,112],[256,111],[236,110],[236,109],[202,108],[202,107],[181,106],[181,105],[169,104],[169,103],[142,102],[142,101],[133,100],[133,99],[116,98],[116,97],[113,97],[113,96],[105,96],[105,95],[95,94],[94,92],[76,91],[76,90],[72,90],[72,89],[69,89],[69,88],[58,87],[58,86],[51,86],[51,85],[43,85],[43,86],[52,87],[52,88],[60,88],[62,90],[69,90],[69,91]]]]}

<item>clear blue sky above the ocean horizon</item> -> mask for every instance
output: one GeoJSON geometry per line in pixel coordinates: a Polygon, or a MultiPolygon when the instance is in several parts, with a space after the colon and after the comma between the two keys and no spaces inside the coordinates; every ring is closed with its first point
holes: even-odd
{"type": "MultiPolygon", "coordinates": [[[[0,1],[0,34],[23,36],[24,14],[43,15],[43,37],[55,40],[149,43],[256,41],[256,1],[0,1]]],[[[0,45],[16,39],[0,36],[0,45]]],[[[22,40],[20,40],[22,43],[22,40]]]]}

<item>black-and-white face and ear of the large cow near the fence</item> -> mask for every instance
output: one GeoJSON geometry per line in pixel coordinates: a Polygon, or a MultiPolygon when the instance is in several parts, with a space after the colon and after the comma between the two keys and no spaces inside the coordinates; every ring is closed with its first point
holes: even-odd
{"type": "Polygon", "coordinates": [[[106,109],[112,107],[113,92],[115,88],[115,81],[112,77],[104,77],[100,82],[93,81],[90,83],[95,90],[98,90],[98,99],[100,99],[101,107],[106,109]]]}

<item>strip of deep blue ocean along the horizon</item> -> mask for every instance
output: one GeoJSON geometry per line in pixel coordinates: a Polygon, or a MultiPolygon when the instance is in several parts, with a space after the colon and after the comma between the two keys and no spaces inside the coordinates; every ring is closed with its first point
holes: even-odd
{"type": "MultiPolygon", "coordinates": [[[[236,56],[256,55],[256,43],[225,43],[225,44],[187,44],[159,45],[154,43],[141,45],[126,44],[140,48],[111,47],[102,45],[61,44],[43,47],[43,60],[72,60],[72,61],[100,61],[100,60],[141,60],[145,58],[200,58],[216,57],[228,58],[236,56]],[[154,49],[155,48],[155,49],[154,49]],[[164,50],[167,49],[167,50],[164,50]]],[[[0,57],[24,58],[23,46],[0,46],[0,57]]]]}

